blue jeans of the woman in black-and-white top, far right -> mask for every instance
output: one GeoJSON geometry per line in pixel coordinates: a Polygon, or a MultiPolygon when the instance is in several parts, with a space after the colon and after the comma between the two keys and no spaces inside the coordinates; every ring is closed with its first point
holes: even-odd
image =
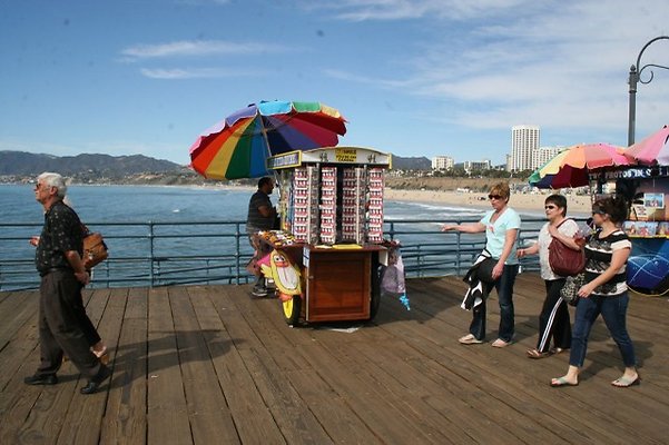
{"type": "Polygon", "coordinates": [[[611,337],[613,337],[613,342],[616,342],[618,349],[620,349],[624,366],[632,367],[637,365],[634,345],[627,333],[626,317],[628,304],[629,295],[627,291],[611,297],[591,295],[588,298],[579,299],[573,330],[571,333],[570,365],[583,366],[590,329],[600,314],[611,333],[611,337]]]}

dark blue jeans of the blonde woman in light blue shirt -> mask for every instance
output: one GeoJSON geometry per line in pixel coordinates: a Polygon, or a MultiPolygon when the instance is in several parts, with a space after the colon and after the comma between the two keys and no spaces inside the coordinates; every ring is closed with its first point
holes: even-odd
{"type": "MultiPolygon", "coordinates": [[[[513,284],[515,283],[516,275],[518,265],[504,265],[502,276],[494,283],[494,285],[490,285],[489,288],[489,293],[492,290],[493,286],[498,291],[498,298],[500,300],[499,338],[503,339],[504,342],[511,342],[513,339],[513,284]]],[[[470,334],[480,340],[485,338],[485,305],[486,301],[483,301],[472,309],[473,318],[470,325],[470,334]]]]}

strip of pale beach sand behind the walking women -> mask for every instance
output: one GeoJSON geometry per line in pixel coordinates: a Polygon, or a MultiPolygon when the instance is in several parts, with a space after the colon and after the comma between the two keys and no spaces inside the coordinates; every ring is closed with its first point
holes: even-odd
{"type": "MultiPolygon", "coordinates": [[[[515,210],[537,211],[543,214],[543,201],[550,194],[545,195],[523,195],[512,194],[509,199],[509,206],[515,210]]],[[[567,195],[568,215],[584,216],[590,214],[591,197],[589,195],[567,195]]],[[[436,190],[401,190],[385,189],[384,199],[396,201],[414,201],[444,204],[451,206],[476,207],[490,209],[488,194],[482,192],[458,192],[458,191],[436,191],[436,190]]]]}

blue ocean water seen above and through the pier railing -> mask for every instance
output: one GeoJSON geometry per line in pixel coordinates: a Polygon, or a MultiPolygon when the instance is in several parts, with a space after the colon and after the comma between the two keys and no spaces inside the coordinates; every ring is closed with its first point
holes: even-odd
{"type": "MultiPolygon", "coordinates": [[[[243,264],[252,255],[244,235],[244,221],[248,199],[254,191],[203,187],[71,186],[68,197],[81,220],[91,230],[101,231],[105,236],[110,254],[110,260],[104,263],[106,276],[130,279],[149,273],[189,277],[201,273],[203,268],[218,276],[234,274],[236,253],[239,251],[243,264]]],[[[276,202],[277,196],[273,196],[272,200],[276,202]]],[[[30,185],[0,185],[0,281],[7,283],[8,274],[18,274],[19,263],[21,277],[35,279],[35,248],[28,239],[39,235],[43,222],[42,207],[35,200],[30,185]]],[[[385,200],[384,206],[385,236],[388,238],[388,230],[394,230],[394,239],[404,247],[405,265],[411,267],[413,261],[413,266],[419,267],[422,261],[420,267],[424,267],[424,261],[433,261],[440,269],[443,269],[439,266],[440,261],[452,260],[456,255],[451,251],[454,235],[442,234],[440,226],[446,221],[475,221],[486,210],[485,207],[392,200],[385,200]]],[[[523,230],[528,227],[525,221],[529,217],[537,221],[534,227],[541,225],[541,217],[524,215],[523,230]]],[[[532,236],[531,230],[525,230],[525,234],[532,236]]],[[[461,241],[480,251],[482,247],[476,243],[483,243],[484,237],[464,234],[461,241]]],[[[170,281],[166,278],[164,283],[170,281]]]]}

